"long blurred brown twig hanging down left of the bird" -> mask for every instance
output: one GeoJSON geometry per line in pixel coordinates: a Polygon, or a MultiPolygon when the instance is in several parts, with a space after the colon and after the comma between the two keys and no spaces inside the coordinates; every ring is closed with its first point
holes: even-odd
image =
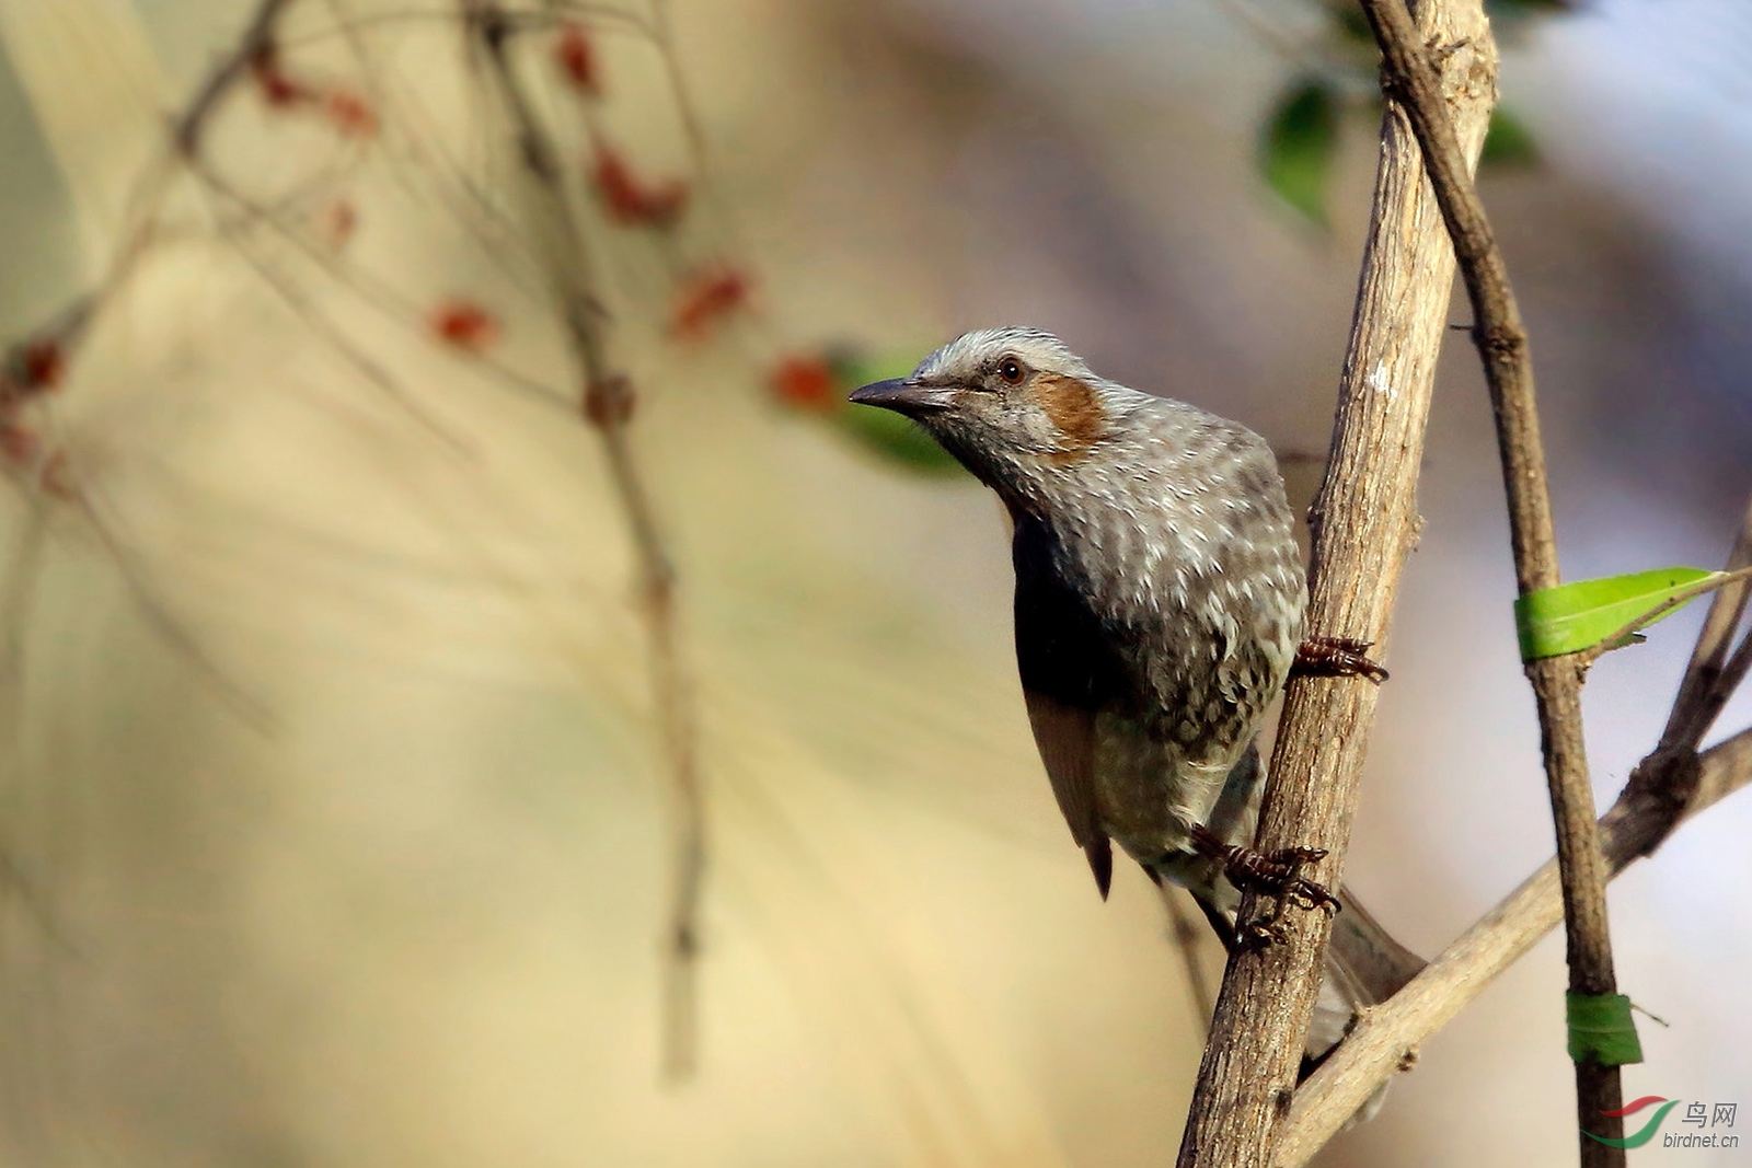
{"type": "Polygon", "coordinates": [[[657,524],[650,489],[627,440],[632,389],[625,376],[610,368],[601,327],[603,308],[592,292],[590,256],[583,229],[566,198],[559,152],[510,60],[508,42],[513,28],[494,0],[463,0],[463,11],[485,51],[487,67],[512,119],[531,196],[531,219],[547,243],[543,254],[554,292],[583,375],[583,415],[603,438],[608,471],[627,515],[639,560],[639,585],[652,639],[653,695],[676,816],[664,942],[664,1072],[680,1079],[694,1072],[696,1061],[696,979],[706,827],[694,695],[682,665],[675,611],[675,567],[657,524]]]}

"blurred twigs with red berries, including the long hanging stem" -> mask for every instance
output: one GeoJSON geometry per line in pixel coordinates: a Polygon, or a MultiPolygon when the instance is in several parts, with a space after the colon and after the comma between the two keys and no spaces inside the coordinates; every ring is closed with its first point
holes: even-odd
{"type": "MultiPolygon", "coordinates": [[[[650,179],[641,173],[599,117],[608,84],[590,25],[608,21],[653,46],[666,56],[666,75],[676,81],[676,65],[668,60],[671,46],[666,14],[655,11],[650,18],[639,18],[634,12],[562,0],[541,0],[538,5],[456,0],[454,7],[429,14],[447,19],[461,33],[461,46],[480,67],[478,75],[494,98],[499,130],[505,131],[501,142],[508,142],[515,154],[513,184],[520,196],[517,210],[522,214],[512,219],[494,205],[485,184],[461,173],[452,158],[422,140],[424,123],[391,105],[391,95],[380,91],[385,82],[370,68],[363,25],[349,23],[349,12],[342,5],[331,5],[326,21],[298,21],[293,26],[294,16],[315,16],[317,12],[305,9],[317,7],[300,5],[298,0],[259,0],[254,5],[237,42],[172,121],[168,151],[140,180],[128,231],[95,289],[4,352],[0,459],[28,494],[67,499],[77,510],[93,513],[74,473],[77,466],[70,468],[65,454],[42,438],[39,415],[53,391],[67,382],[79,345],[105,306],[133,275],[138,261],[166,238],[158,212],[179,177],[193,179],[198,205],[205,212],[191,235],[212,231],[231,245],[310,329],[314,340],[336,348],[366,382],[440,433],[449,445],[463,447],[401,385],[399,371],[361,347],[350,336],[349,322],[328,315],[296,277],[287,277],[273,259],[254,254],[252,238],[272,240],[307,264],[307,271],[347,285],[382,312],[385,320],[412,327],[499,383],[545,398],[550,392],[545,378],[499,357],[508,320],[480,296],[445,292],[422,301],[419,292],[410,298],[366,264],[342,261],[361,228],[361,212],[345,189],[333,193],[340,187],[336,175],[345,175],[345,165],[385,147],[389,140],[403,152],[401,161],[426,165],[424,179],[433,187],[431,194],[452,200],[475,242],[494,261],[508,268],[533,266],[545,278],[571,348],[575,371],[569,382],[576,391],[568,396],[573,417],[580,417],[601,438],[634,546],[662,772],[675,821],[669,914],[662,946],[664,1068],[675,1077],[689,1075],[696,1063],[696,967],[706,865],[694,693],[683,662],[676,567],[650,485],[629,441],[634,391],[611,355],[611,317],[597,270],[601,256],[592,252],[592,233],[604,228],[655,240],[668,266],[666,277],[673,280],[673,294],[652,315],[661,319],[664,334],[675,340],[704,340],[725,319],[746,308],[750,278],[743,268],[692,261],[675,238],[692,203],[689,180],[650,179]],[[303,58],[307,46],[328,47],[336,42],[354,54],[357,75],[338,72],[333,54],[329,65],[303,58]],[[561,114],[569,114],[587,128],[582,163],[576,149],[564,151],[559,145],[561,130],[548,124],[550,107],[536,96],[545,82],[529,75],[533,67],[557,74],[561,95],[571,98],[571,109],[561,114]],[[245,119],[273,117],[275,126],[286,124],[289,130],[301,124],[319,138],[326,135],[338,147],[342,165],[329,166],[315,180],[300,180],[289,191],[273,191],[265,198],[251,182],[254,175],[228,173],[210,158],[215,123],[233,112],[245,119]]],[[[433,26],[440,28],[436,23],[433,26]]],[[[697,152],[699,135],[692,112],[685,107],[683,95],[676,93],[676,100],[690,145],[697,152]]],[[[119,541],[105,534],[102,525],[100,536],[112,552],[123,553],[119,541]]],[[[173,639],[187,643],[173,618],[158,618],[156,623],[173,639]]],[[[186,648],[189,657],[200,660],[201,655],[191,643],[186,648]]]]}

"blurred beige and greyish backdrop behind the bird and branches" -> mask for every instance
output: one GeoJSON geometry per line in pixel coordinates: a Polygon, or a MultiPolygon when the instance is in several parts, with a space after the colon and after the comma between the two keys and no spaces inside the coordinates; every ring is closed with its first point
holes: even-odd
{"type": "MultiPolygon", "coordinates": [[[[161,114],[247,9],[0,0],[0,334],[98,278],[161,114]]],[[[385,109],[510,184],[454,25],[310,9],[373,30],[385,109]]],[[[1247,11],[1307,28],[1295,4],[1247,11]]],[[[1715,564],[1752,489],[1752,19],[1652,12],[1521,30],[1503,91],[1544,161],[1486,180],[1577,578],[1715,564]]],[[[505,361],[562,394],[540,270],[429,196],[431,158],[291,149],[240,117],[207,161],[280,193],[340,173],[357,238],[324,268],[172,191],[177,229],[56,399],[89,511],[9,503],[9,1163],[1172,1157],[1198,1019],[1155,893],[1134,870],[1100,904],[1056,818],[997,506],[783,413],[762,378],[780,350],[913,357],[1028,322],[1318,452],[1367,119],[1321,236],[1254,172],[1295,67],[1218,0],[682,0],[673,23],[711,179],[682,245],[759,280],[745,327],[661,343],[639,313],[668,257],[604,252],[701,693],[697,1080],[659,1084],[666,809],[599,452],[562,406],[373,315],[378,285],[503,305],[505,361]]],[[[624,40],[603,39],[613,126],[678,168],[668,82],[624,40]]],[[[1423,953],[1551,851],[1500,496],[1456,336],[1349,863],[1423,953]]],[[[1694,622],[1594,671],[1601,799],[1652,744],[1694,622]]],[[[1621,984],[1671,1023],[1642,1024],[1631,1096],[1752,1105],[1748,816],[1731,800],[1614,886],[1621,984]]],[[[1323,1163],[1566,1163],[1561,989],[1549,939],[1323,1163]]]]}

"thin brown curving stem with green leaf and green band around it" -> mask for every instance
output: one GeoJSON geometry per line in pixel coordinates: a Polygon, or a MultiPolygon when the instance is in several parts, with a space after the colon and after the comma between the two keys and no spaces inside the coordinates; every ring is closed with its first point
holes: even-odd
{"type": "MultiPolygon", "coordinates": [[[[1459,138],[1442,98],[1442,81],[1430,58],[1430,40],[1412,23],[1403,0],[1361,0],[1363,14],[1381,46],[1381,84],[1398,100],[1435,186],[1437,203],[1454,238],[1461,275],[1472,298],[1472,336],[1484,359],[1484,376],[1496,413],[1496,445],[1508,494],[1508,527],[1514,541],[1515,583],[1521,594],[1554,588],[1558,534],[1551,517],[1551,485],[1545,447],[1540,443],[1538,406],[1533,392],[1533,355],[1508,268],[1484,203],[1473,187],[1459,138]]],[[[1449,47],[1442,42],[1442,51],[1449,47]]],[[[1614,995],[1612,933],[1607,919],[1607,877],[1594,825],[1594,795],[1587,779],[1587,748],[1582,737],[1582,679],[1586,664],[1577,658],[1528,662],[1528,681],[1538,704],[1540,751],[1551,788],[1551,813],[1558,828],[1558,860],[1563,872],[1563,916],[1570,942],[1570,993],[1614,995]]],[[[1601,1066],[1593,1054],[1575,1063],[1577,1135],[1582,1164],[1622,1164],[1624,1149],[1589,1138],[1594,1133],[1622,1138],[1622,1117],[1605,1112],[1622,1107],[1617,1066],[1601,1066]]]]}

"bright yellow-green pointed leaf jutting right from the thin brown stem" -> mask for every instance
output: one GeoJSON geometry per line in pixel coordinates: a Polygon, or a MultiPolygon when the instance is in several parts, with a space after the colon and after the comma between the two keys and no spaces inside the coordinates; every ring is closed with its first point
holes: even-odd
{"type": "MultiPolygon", "coordinates": [[[[1647,623],[1677,613],[1694,595],[1699,583],[1722,573],[1701,567],[1657,567],[1629,576],[1579,580],[1529,592],[1515,601],[1515,632],[1521,636],[1521,660],[1579,653],[1615,636],[1624,625],[1642,618],[1649,609],[1678,601],[1647,623]]],[[[1617,644],[1635,644],[1642,637],[1631,634],[1617,644]]]]}

